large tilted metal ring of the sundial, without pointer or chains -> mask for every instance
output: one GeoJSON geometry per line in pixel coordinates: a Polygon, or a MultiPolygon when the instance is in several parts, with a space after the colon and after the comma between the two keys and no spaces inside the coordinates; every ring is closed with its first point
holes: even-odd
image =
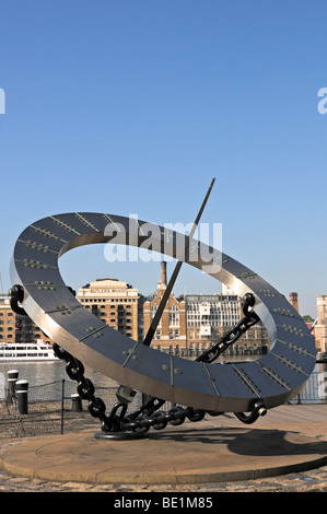
{"type": "Polygon", "coordinates": [[[185,256],[184,243],[183,234],[130,218],[91,212],[51,215],[27,226],[17,238],[11,279],[23,287],[22,307],[48,337],[119,384],[210,411],[252,411],[258,399],[268,409],[289,401],[315,365],[315,342],[305,323],[282,294],[250,269],[194,240],[185,256]],[[185,259],[241,296],[252,292],[270,351],[256,361],[206,364],[159,352],[105,325],[71,294],[58,267],[68,250],[95,243],[147,244],[154,252],[185,259]]]}

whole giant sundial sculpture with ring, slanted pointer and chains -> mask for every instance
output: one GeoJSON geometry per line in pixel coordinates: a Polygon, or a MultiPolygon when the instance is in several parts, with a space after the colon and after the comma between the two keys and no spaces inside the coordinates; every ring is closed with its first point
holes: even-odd
{"type": "MultiPolygon", "coordinates": [[[[194,229],[212,185],[213,182],[194,229]]],[[[185,237],[120,215],[71,212],[36,221],[15,243],[11,269],[12,308],[27,314],[56,341],[55,351],[67,361],[67,372],[78,382],[78,393],[89,399],[91,414],[101,421],[98,436],[137,437],[150,428],[160,430],[167,423],[178,425],[185,419],[198,421],[207,413],[234,412],[241,421],[252,423],[268,409],[293,398],[313,372],[314,338],[293,306],[257,273],[232,257],[199,244],[192,240],[192,234],[194,231],[185,237]],[[145,241],[155,252],[178,259],[166,295],[184,260],[232,287],[235,294],[243,297],[244,318],[195,361],[151,348],[165,299],[145,340],[137,342],[84,308],[61,279],[58,259],[72,248],[98,243],[140,247],[145,241]],[[214,362],[258,320],[262,322],[271,341],[267,354],[249,362],[214,362]],[[95,396],[92,382],[84,376],[82,363],[121,384],[117,390],[118,402],[109,414],[103,400],[95,396]],[[128,413],[136,392],[150,398],[128,413]],[[160,410],[165,401],[176,407],[160,410]]]]}

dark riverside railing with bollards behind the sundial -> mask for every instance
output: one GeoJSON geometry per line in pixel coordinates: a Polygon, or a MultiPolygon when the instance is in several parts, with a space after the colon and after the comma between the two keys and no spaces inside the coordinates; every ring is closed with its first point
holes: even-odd
{"type": "MultiPolygon", "coordinates": [[[[75,382],[62,378],[28,387],[26,381],[9,377],[4,390],[5,397],[0,400],[0,437],[98,430],[98,420],[90,414],[87,400],[77,394],[75,382]]],[[[96,387],[107,410],[117,402],[116,390],[116,386],[96,387]]],[[[141,399],[138,394],[135,402],[139,406],[141,399]]],[[[291,404],[327,404],[327,372],[315,371],[291,404]]]]}

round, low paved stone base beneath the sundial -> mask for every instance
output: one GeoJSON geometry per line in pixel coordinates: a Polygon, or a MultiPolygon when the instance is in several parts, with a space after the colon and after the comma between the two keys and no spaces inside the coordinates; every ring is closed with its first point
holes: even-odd
{"type": "Polygon", "coordinates": [[[248,480],[326,463],[324,440],[248,428],[172,428],[135,441],[95,439],[94,432],[45,435],[0,452],[0,465],[9,472],[89,483],[248,480]]]}

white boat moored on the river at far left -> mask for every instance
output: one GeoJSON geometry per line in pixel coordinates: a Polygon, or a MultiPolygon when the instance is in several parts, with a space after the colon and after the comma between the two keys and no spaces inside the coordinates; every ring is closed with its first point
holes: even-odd
{"type": "Polygon", "coordinates": [[[37,342],[0,343],[0,362],[16,361],[56,361],[51,344],[37,342]]]}

